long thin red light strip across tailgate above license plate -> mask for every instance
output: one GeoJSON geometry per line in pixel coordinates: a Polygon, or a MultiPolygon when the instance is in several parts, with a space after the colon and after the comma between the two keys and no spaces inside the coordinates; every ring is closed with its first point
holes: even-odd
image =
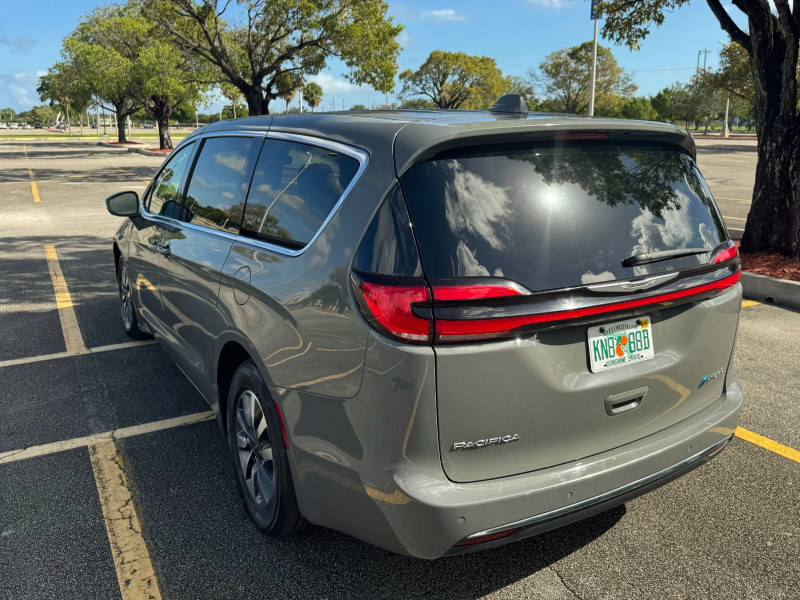
{"type": "Polygon", "coordinates": [[[521,317],[501,317],[498,319],[475,319],[475,320],[459,320],[447,321],[444,319],[436,320],[436,337],[437,342],[459,342],[471,341],[480,339],[491,339],[502,337],[519,327],[526,325],[536,325],[538,323],[551,323],[554,321],[568,321],[572,319],[580,319],[584,317],[591,317],[604,313],[617,312],[620,310],[628,310],[631,308],[638,308],[640,306],[649,306],[652,304],[659,304],[661,302],[670,302],[678,300],[687,296],[694,296],[703,294],[705,292],[724,290],[732,285],[735,285],[741,278],[741,271],[737,271],[733,275],[729,275],[719,281],[706,283],[696,287],[679,290],[677,292],[669,292],[666,294],[659,294],[656,296],[648,296],[646,298],[639,298],[636,300],[626,300],[623,302],[612,302],[611,304],[602,304],[600,306],[591,306],[588,308],[577,308],[573,310],[562,310],[551,313],[540,313],[536,315],[524,315],[521,317]]]}

